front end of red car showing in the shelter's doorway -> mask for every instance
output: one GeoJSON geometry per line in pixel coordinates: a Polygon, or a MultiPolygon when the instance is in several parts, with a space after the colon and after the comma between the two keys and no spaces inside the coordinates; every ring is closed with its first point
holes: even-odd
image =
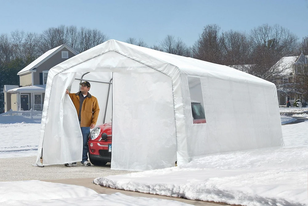
{"type": "Polygon", "coordinates": [[[88,147],[89,159],[92,164],[101,166],[111,162],[111,140],[111,122],[99,125],[91,131],[88,147]]]}

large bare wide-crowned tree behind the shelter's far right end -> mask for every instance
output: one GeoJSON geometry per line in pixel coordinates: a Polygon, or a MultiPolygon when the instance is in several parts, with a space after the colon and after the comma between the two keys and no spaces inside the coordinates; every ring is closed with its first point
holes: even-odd
{"type": "Polygon", "coordinates": [[[251,30],[250,39],[253,43],[250,58],[253,67],[249,73],[274,82],[282,72],[279,60],[296,52],[297,36],[277,24],[263,24],[251,30]]]}

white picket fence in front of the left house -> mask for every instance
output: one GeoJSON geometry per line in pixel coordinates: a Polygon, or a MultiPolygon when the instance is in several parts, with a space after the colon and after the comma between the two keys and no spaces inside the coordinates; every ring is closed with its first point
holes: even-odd
{"type": "Polygon", "coordinates": [[[0,121],[24,121],[24,120],[42,120],[42,111],[30,109],[29,111],[10,111],[0,114],[0,121]]]}

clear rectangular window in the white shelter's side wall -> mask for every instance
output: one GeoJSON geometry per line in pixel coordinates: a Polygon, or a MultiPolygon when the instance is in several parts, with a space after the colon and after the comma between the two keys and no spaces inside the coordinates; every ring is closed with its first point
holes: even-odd
{"type": "Polygon", "coordinates": [[[193,115],[193,124],[206,123],[200,78],[187,77],[187,80],[193,115]]]}

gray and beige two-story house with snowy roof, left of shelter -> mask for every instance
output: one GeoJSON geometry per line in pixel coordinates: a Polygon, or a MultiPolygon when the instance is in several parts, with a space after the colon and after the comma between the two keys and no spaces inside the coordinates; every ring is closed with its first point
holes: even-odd
{"type": "Polygon", "coordinates": [[[63,44],[45,52],[19,71],[20,85],[4,85],[4,111],[42,111],[49,69],[77,54],[73,48],[63,44]]]}

